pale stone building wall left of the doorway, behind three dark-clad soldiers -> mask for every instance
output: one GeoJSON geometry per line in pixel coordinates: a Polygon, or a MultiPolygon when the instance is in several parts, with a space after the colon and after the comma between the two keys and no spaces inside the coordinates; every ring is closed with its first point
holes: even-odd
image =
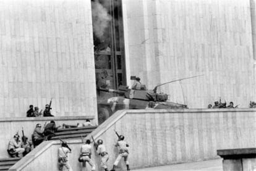
{"type": "Polygon", "coordinates": [[[0,2],[0,117],[96,115],[90,0],[0,2]]]}

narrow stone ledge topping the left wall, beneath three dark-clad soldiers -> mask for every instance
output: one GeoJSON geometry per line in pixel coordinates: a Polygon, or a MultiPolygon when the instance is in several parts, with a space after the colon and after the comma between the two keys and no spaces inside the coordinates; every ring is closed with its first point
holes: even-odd
{"type": "Polygon", "coordinates": [[[95,116],[88,115],[88,116],[69,116],[69,117],[15,117],[15,118],[0,118],[0,122],[40,121],[40,120],[86,120],[86,119],[95,119],[95,116]]]}

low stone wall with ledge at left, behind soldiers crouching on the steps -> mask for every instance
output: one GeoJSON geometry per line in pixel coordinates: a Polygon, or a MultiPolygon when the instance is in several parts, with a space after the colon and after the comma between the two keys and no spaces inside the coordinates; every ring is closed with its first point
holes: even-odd
{"type": "MultiPolygon", "coordinates": [[[[0,119],[0,158],[9,157],[7,154],[7,147],[9,140],[19,131],[20,138],[22,137],[22,127],[25,136],[31,139],[31,135],[35,129],[36,123],[41,123],[43,126],[45,122],[49,123],[50,120],[54,120],[56,125],[62,125],[63,123],[75,125],[77,123],[83,123],[86,119],[95,119],[94,116],[80,116],[80,117],[25,117],[25,118],[2,118],[0,119]]],[[[94,120],[92,121],[94,122],[94,120]]]]}

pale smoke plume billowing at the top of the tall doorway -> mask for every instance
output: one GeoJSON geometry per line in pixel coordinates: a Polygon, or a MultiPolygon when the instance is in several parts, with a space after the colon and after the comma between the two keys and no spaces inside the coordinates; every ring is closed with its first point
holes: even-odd
{"type": "Polygon", "coordinates": [[[109,22],[111,15],[105,6],[101,5],[98,0],[92,1],[92,20],[93,20],[93,33],[100,39],[104,40],[109,33],[109,22]]]}

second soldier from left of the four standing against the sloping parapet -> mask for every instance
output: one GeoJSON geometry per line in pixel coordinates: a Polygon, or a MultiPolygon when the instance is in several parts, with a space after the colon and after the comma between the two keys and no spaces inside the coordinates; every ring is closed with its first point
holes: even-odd
{"type": "Polygon", "coordinates": [[[86,140],[85,144],[82,145],[79,162],[88,162],[92,167],[92,171],[95,171],[95,164],[93,164],[91,159],[92,146],[90,145],[90,143],[90,140],[86,140]]]}

